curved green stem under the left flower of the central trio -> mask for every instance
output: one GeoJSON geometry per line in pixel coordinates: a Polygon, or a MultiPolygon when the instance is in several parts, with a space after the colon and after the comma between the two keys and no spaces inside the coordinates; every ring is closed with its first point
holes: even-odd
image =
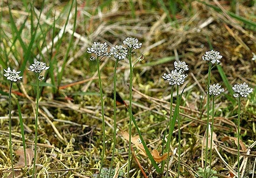
{"type": "Polygon", "coordinates": [[[103,101],[103,92],[102,92],[102,83],[101,83],[101,77],[100,77],[100,59],[97,56],[96,58],[96,62],[97,62],[97,72],[98,72],[98,78],[99,78],[99,87],[100,87],[100,101],[101,101],[101,116],[102,116],[102,132],[103,132],[103,150],[102,150],[102,155],[101,155],[101,162],[100,162],[100,171],[99,171],[99,175],[98,178],[100,178],[100,173],[101,173],[101,169],[103,167],[103,161],[104,161],[104,156],[105,156],[105,119],[104,119],[104,101],[103,101]]]}

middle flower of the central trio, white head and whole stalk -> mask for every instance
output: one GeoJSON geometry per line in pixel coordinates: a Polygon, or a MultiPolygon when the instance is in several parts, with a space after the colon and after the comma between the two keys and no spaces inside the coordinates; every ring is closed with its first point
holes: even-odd
{"type": "Polygon", "coordinates": [[[110,49],[110,54],[114,55],[115,64],[114,64],[114,141],[113,141],[113,151],[112,151],[112,158],[111,158],[111,163],[110,163],[110,169],[109,169],[109,174],[108,178],[111,177],[112,173],[112,166],[114,162],[114,152],[115,152],[115,145],[116,145],[116,69],[117,69],[117,64],[119,60],[125,59],[127,55],[127,48],[120,45],[120,46],[115,46],[110,49]]]}

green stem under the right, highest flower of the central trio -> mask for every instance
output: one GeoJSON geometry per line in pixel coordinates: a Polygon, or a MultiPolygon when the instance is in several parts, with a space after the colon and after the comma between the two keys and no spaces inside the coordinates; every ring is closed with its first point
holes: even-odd
{"type": "Polygon", "coordinates": [[[130,86],[129,86],[129,150],[128,150],[128,172],[127,178],[129,178],[129,171],[131,167],[131,134],[132,134],[132,79],[133,79],[133,68],[132,68],[132,58],[131,58],[131,51],[129,49],[128,52],[128,59],[129,59],[129,66],[130,66],[130,86]]]}

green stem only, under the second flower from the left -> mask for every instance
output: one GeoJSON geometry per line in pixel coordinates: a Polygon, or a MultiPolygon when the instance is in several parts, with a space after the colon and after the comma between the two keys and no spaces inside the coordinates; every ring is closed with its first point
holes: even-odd
{"type": "Polygon", "coordinates": [[[37,148],[37,120],[38,120],[38,104],[39,104],[39,73],[36,73],[36,123],[35,123],[35,149],[34,149],[34,164],[32,178],[35,178],[36,173],[36,148],[37,148]]]}

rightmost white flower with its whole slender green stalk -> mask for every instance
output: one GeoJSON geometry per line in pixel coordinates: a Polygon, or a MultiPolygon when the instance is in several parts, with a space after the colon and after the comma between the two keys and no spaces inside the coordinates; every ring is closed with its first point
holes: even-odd
{"type": "Polygon", "coordinates": [[[241,112],[241,97],[246,98],[253,89],[248,86],[247,83],[235,84],[232,87],[235,92],[234,97],[238,98],[238,118],[237,118],[237,174],[240,178],[240,112],[241,112]]]}

